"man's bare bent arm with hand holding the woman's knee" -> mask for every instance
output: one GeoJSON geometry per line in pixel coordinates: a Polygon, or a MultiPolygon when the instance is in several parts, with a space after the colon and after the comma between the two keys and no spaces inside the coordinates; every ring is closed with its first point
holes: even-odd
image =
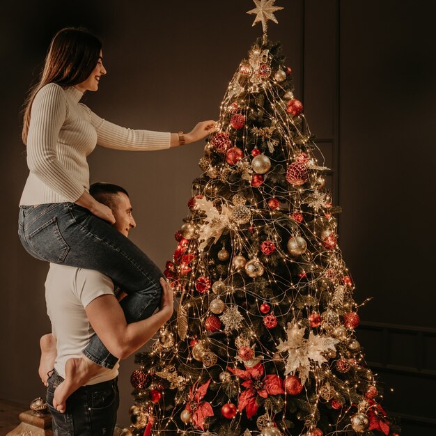
{"type": "Polygon", "coordinates": [[[114,295],[101,295],[86,308],[86,316],[102,343],[118,359],[125,359],[148,342],[173,314],[173,290],[164,279],[162,303],[146,320],[127,324],[123,309],[114,295]]]}

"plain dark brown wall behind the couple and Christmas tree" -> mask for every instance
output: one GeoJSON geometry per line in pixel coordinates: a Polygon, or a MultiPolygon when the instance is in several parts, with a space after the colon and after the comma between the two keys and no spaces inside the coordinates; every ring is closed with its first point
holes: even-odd
{"type": "MultiPolygon", "coordinates": [[[[435,328],[430,279],[435,11],[422,0],[277,3],[285,10],[276,14],[279,25],[270,24],[270,38],[283,42],[295,71],[295,94],[304,100],[311,130],[332,166],[329,185],[343,206],[339,242],[357,284],[356,299],[373,297],[361,317],[378,327],[371,333],[363,326],[361,342],[371,361],[380,364],[388,387],[398,391],[387,399],[392,410],[431,417],[426,407],[411,410],[405,400],[413,384],[423,404],[432,398],[432,331],[424,335],[426,347],[418,350],[412,348],[410,332],[391,334],[388,342],[379,333],[386,327],[380,323],[419,327],[419,334],[423,327],[435,328]],[[417,378],[386,373],[379,348],[389,348],[389,359],[416,370],[417,378]],[[427,353],[430,379],[421,377],[416,353],[427,353]]],[[[18,113],[52,34],[62,26],[85,25],[102,36],[109,73],[100,91],[85,98],[100,116],[126,127],[174,132],[217,118],[228,81],[260,33],[260,26],[251,27],[253,16],[245,14],[254,7],[249,0],[130,1],[123,6],[75,1],[74,10],[71,4],[25,1],[6,6],[1,14],[0,397],[13,400],[43,394],[36,368],[38,338],[49,331],[43,287],[47,265],[26,254],[16,235],[27,173],[18,113]]],[[[173,233],[187,214],[202,154],[198,143],[141,154],[98,148],[89,158],[91,182],[116,182],[129,190],[138,223],[132,239],[160,267],[173,253],[173,233]]],[[[133,358],[123,362],[120,423],[127,423],[132,404],[128,379],[133,368],[133,358]]]]}

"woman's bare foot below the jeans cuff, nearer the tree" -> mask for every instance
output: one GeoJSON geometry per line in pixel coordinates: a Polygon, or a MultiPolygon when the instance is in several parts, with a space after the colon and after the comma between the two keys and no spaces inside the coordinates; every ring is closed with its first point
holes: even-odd
{"type": "Polygon", "coordinates": [[[65,380],[54,389],[53,407],[61,413],[65,412],[67,398],[101,368],[87,357],[68,359],[65,364],[65,380]]]}

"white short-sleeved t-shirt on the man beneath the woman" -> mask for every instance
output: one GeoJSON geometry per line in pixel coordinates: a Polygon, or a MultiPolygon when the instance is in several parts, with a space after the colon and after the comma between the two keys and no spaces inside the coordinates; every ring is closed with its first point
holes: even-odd
{"type": "MultiPolygon", "coordinates": [[[[84,357],[83,350],[94,334],[85,308],[100,295],[114,295],[114,283],[95,270],[50,263],[45,281],[47,313],[56,338],[57,357],[54,368],[65,378],[65,363],[70,357],[84,357]]],[[[86,384],[112,380],[118,375],[113,369],[101,368],[86,384]]]]}

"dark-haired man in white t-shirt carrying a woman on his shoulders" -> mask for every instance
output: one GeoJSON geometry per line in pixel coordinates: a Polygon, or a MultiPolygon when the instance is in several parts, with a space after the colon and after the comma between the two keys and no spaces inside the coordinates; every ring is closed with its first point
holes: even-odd
{"type": "MultiPolygon", "coordinates": [[[[114,213],[114,226],[128,236],[136,226],[130,198],[122,187],[95,183],[91,195],[114,213]]],[[[127,324],[109,277],[95,270],[50,264],[45,283],[52,334],[42,336],[39,373],[47,386],[47,403],[55,435],[111,435],[116,423],[118,364],[95,366],[89,373],[82,350],[94,332],[118,359],[143,346],[171,318],[173,293],[161,279],[159,311],[127,324]],[[47,372],[54,372],[47,380],[47,372]],[[59,399],[60,398],[60,399],[59,399]],[[65,405],[65,400],[68,402],[65,405]]]]}

